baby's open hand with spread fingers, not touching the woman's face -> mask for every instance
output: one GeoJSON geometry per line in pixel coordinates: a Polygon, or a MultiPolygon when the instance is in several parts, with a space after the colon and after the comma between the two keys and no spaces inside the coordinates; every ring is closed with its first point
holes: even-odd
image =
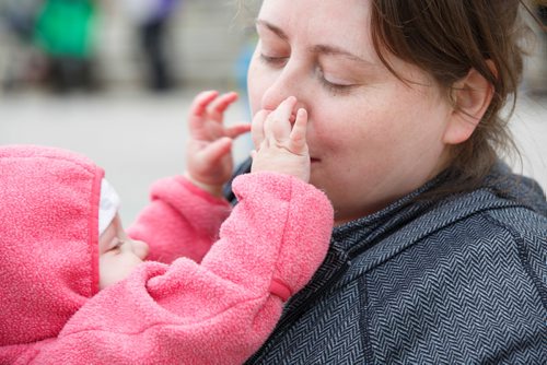
{"type": "Polygon", "coordinates": [[[207,191],[221,196],[233,169],[232,140],[251,130],[251,125],[224,127],[224,111],[237,99],[236,93],[219,96],[202,92],[193,102],[187,144],[187,178],[207,191]]]}

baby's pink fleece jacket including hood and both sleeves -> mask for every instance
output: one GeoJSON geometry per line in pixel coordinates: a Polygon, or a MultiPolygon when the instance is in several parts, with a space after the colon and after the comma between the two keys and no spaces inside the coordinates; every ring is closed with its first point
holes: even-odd
{"type": "Polygon", "coordinates": [[[0,364],[241,364],[327,250],[333,210],[311,185],[238,177],[214,243],[228,203],[175,177],[130,229],[171,263],[98,292],[102,177],[72,153],[0,148],[0,364]]]}

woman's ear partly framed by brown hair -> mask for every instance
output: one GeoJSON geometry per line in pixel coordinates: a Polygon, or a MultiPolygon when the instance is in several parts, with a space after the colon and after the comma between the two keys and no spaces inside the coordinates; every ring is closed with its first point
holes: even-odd
{"type": "MultiPolygon", "coordinates": [[[[493,67],[488,61],[490,67],[493,67]]],[[[466,141],[475,131],[485,115],[493,95],[493,85],[475,69],[457,81],[452,89],[454,110],[446,129],[443,141],[447,144],[458,144],[466,141]]]]}

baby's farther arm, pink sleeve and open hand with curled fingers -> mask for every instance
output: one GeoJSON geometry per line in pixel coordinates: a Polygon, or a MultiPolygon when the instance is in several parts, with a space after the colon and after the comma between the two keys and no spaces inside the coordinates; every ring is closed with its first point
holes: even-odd
{"type": "Polygon", "coordinates": [[[196,96],[188,117],[187,170],[152,186],[151,202],[128,229],[150,245],[149,260],[172,262],[188,257],[199,262],[218,239],[230,204],[221,198],[222,185],[232,174],[232,139],[251,125],[223,126],[226,108],[236,93],[216,91],[196,96]]]}

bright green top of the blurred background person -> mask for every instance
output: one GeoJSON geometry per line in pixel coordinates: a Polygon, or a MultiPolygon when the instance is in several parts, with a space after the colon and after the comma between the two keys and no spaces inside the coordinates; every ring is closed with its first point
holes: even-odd
{"type": "Polygon", "coordinates": [[[36,22],[36,42],[49,56],[89,58],[94,16],[91,0],[46,0],[36,22]]]}

